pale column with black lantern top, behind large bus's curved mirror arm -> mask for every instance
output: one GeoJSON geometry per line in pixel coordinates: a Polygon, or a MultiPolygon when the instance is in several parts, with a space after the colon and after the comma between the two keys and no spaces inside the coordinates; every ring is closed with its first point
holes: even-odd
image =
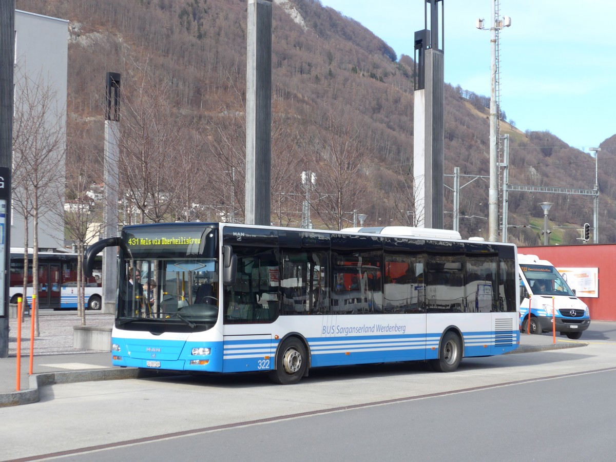
{"type": "MultiPolygon", "coordinates": [[[[105,111],[105,160],[103,164],[103,238],[118,235],[118,156],[120,155],[120,74],[107,73],[107,110],[105,111]]],[[[118,279],[118,251],[103,250],[103,313],[115,313],[118,279]]]]}

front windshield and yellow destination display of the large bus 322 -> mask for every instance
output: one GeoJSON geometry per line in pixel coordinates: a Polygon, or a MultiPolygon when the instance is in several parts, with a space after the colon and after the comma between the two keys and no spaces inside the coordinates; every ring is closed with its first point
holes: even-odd
{"type": "MultiPolygon", "coordinates": [[[[130,231],[130,230],[129,230],[130,231]]],[[[204,330],[218,317],[215,230],[171,235],[163,226],[123,233],[118,323],[171,323],[204,330]],[[209,241],[214,241],[209,242],[209,241]]]]}

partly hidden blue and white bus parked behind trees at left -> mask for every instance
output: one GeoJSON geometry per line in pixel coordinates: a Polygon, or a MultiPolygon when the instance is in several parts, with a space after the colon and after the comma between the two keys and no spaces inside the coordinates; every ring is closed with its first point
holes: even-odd
{"type": "MultiPolygon", "coordinates": [[[[39,309],[76,309],[77,294],[77,259],[75,253],[38,253],[38,294],[36,301],[39,309]]],[[[102,307],[102,257],[94,257],[92,275],[87,278],[84,288],[84,306],[91,310],[102,307]]],[[[10,287],[11,303],[23,299],[23,279],[26,272],[23,265],[23,249],[12,248],[10,253],[10,287]]],[[[28,272],[26,298],[32,304],[32,254],[28,253],[28,272]]],[[[25,301],[25,300],[24,300],[25,301]]]]}

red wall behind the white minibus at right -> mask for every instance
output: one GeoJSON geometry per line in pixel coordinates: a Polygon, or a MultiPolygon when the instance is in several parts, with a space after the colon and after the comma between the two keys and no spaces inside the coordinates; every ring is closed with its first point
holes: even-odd
{"type": "Polygon", "coordinates": [[[537,255],[556,267],[599,268],[599,298],[580,297],[590,318],[616,321],[616,244],[519,247],[518,253],[537,255]]]}

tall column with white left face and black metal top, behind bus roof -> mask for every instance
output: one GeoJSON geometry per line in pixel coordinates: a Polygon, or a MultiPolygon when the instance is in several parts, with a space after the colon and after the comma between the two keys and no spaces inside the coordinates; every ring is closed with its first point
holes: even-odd
{"type": "Polygon", "coordinates": [[[444,227],[445,74],[442,0],[425,0],[424,29],[415,32],[413,177],[419,227],[444,227]],[[439,33],[440,3],[440,33],[439,33]],[[428,6],[430,30],[428,30],[428,6]],[[440,43],[439,43],[440,38],[440,43]],[[423,214],[421,213],[423,211],[423,214]]]}

